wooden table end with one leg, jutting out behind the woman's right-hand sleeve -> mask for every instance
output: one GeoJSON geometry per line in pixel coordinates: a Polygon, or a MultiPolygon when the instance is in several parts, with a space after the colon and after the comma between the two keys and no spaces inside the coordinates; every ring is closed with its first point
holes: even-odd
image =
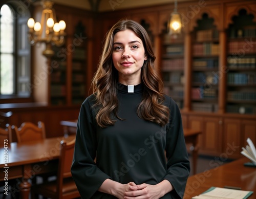
{"type": "Polygon", "coordinates": [[[184,128],[184,138],[186,144],[192,144],[192,157],[193,157],[193,174],[197,173],[197,159],[198,159],[198,136],[201,134],[200,130],[184,128]]]}

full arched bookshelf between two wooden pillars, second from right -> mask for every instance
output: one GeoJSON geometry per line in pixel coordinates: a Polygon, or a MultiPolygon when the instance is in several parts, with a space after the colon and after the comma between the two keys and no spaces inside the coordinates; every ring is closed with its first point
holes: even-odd
{"type": "Polygon", "coordinates": [[[192,35],[191,110],[218,111],[219,32],[206,13],[192,35]]]}

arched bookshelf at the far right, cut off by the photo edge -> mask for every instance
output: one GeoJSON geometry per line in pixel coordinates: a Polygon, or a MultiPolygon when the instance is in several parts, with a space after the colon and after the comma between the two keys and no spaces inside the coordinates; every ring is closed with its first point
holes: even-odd
{"type": "Polygon", "coordinates": [[[227,113],[256,115],[256,23],[252,19],[240,9],[227,30],[227,113]]]}

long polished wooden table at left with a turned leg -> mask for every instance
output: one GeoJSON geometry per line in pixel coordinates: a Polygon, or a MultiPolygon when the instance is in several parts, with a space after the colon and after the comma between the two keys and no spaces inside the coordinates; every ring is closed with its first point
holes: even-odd
{"type": "Polygon", "coordinates": [[[7,156],[5,156],[6,149],[0,149],[0,181],[4,181],[5,176],[8,176],[8,180],[16,179],[14,190],[20,192],[22,198],[28,199],[31,187],[29,179],[39,173],[57,171],[62,139],[71,141],[75,139],[75,135],[68,138],[57,137],[42,141],[6,144],[7,156]],[[8,162],[5,162],[5,157],[8,158],[8,162]]]}

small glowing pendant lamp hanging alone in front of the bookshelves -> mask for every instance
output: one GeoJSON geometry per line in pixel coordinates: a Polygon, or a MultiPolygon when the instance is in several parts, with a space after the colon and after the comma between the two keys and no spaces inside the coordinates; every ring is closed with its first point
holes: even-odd
{"type": "Polygon", "coordinates": [[[180,34],[182,28],[181,15],[177,12],[177,0],[174,2],[174,12],[170,14],[167,30],[168,34],[180,34]]]}

